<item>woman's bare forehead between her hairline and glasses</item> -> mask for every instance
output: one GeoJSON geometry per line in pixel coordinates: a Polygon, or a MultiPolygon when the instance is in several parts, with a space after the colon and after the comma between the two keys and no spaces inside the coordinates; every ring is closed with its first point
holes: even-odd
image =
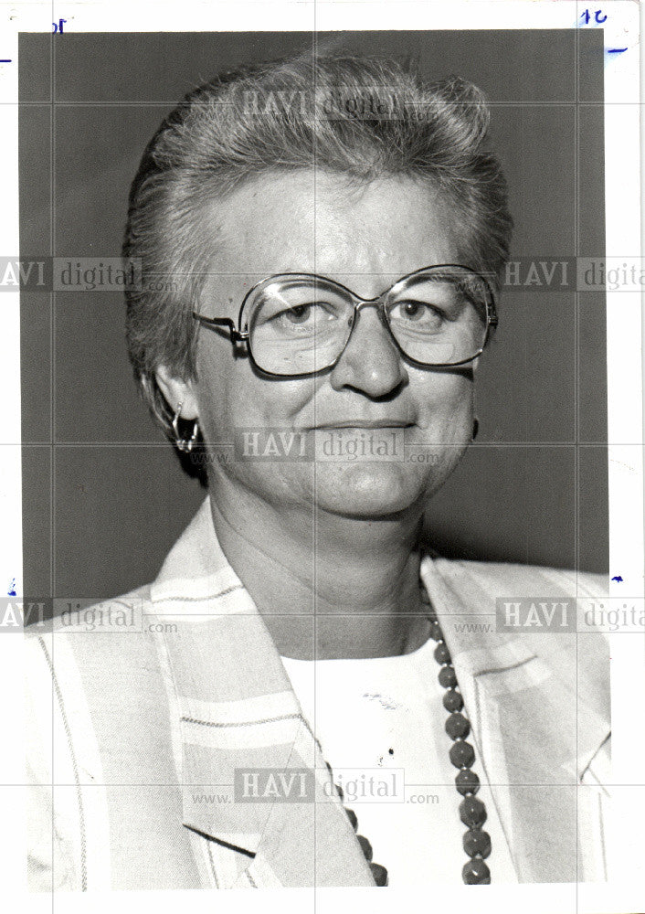
{"type": "Polygon", "coordinates": [[[449,207],[410,178],[350,186],[342,175],[263,175],[213,203],[203,228],[222,278],[303,271],[380,283],[457,256],[449,207]]]}

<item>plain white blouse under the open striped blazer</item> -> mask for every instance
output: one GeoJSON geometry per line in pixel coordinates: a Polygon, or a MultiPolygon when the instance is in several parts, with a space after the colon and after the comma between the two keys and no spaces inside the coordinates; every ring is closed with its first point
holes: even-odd
{"type": "MultiPolygon", "coordinates": [[[[412,654],[360,660],[281,658],[334,774],[357,770],[342,771],[344,805],[356,813],[358,834],[372,845],[374,862],[386,867],[390,886],[461,883],[469,859],[462,844],[467,826],[460,821],[457,769],[449,760],[452,740],[444,728],[448,712],[435,646],[428,640],[412,654]],[[381,797],[386,791],[391,796],[388,769],[403,769],[405,786],[398,802],[371,795],[385,784],[381,797]]],[[[483,828],[491,835],[486,860],[491,881],[516,883],[478,755],[472,768],[481,781],[477,796],[488,813],[483,828]]]]}

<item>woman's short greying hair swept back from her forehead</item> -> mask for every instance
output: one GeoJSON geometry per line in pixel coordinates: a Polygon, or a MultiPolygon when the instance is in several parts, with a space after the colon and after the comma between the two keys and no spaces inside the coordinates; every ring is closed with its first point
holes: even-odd
{"type": "Polygon", "coordinates": [[[463,260],[496,282],[512,219],[501,166],[485,149],[488,125],[471,83],[424,85],[396,61],[375,58],[302,55],[244,66],[190,92],[143,154],[123,242],[143,272],[141,290],[126,292],[128,350],[166,433],[169,405],[154,374],[164,365],[175,377],[196,377],[191,311],[215,250],[200,230],[213,200],[257,175],[314,165],[357,184],[425,179],[450,201],[463,260]]]}

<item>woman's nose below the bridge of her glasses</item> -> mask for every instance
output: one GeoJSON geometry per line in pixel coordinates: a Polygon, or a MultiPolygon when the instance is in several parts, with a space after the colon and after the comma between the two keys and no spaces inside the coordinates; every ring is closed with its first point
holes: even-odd
{"type": "Polygon", "coordinates": [[[355,322],[349,343],[333,367],[332,387],[354,388],[373,398],[385,397],[407,381],[403,358],[375,308],[358,312],[355,322]]]}

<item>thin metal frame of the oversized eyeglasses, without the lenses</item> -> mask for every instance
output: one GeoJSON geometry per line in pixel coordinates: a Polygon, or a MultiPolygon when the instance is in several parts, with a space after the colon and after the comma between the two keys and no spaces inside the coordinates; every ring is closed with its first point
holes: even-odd
{"type": "Polygon", "coordinates": [[[476,358],[479,358],[479,356],[481,356],[481,353],[484,351],[484,349],[486,348],[486,345],[488,344],[489,340],[491,339],[492,330],[494,330],[495,327],[497,327],[499,324],[499,319],[497,316],[497,309],[495,307],[495,296],[494,296],[494,293],[492,292],[491,283],[488,282],[486,277],[483,276],[480,272],[478,272],[476,270],[472,270],[471,267],[467,267],[463,263],[433,263],[428,267],[421,267],[419,270],[415,270],[411,273],[406,273],[405,276],[402,276],[400,279],[397,280],[397,282],[394,282],[388,289],[386,289],[385,292],[381,292],[380,295],[376,295],[375,298],[361,298],[360,295],[356,295],[355,292],[353,292],[351,289],[349,289],[347,286],[345,286],[342,282],[336,282],[335,280],[330,279],[329,276],[321,276],[319,273],[294,273],[294,272],[273,273],[271,276],[267,276],[263,280],[259,280],[259,282],[256,282],[248,290],[248,292],[242,299],[242,303],[239,308],[237,327],[236,327],[235,321],[233,320],[232,317],[206,317],[204,314],[198,314],[196,311],[194,311],[192,314],[193,314],[194,319],[196,321],[198,321],[199,324],[201,324],[202,326],[206,326],[209,330],[217,330],[220,327],[227,327],[227,329],[230,333],[231,344],[235,346],[235,345],[238,345],[239,343],[245,343],[247,345],[248,358],[250,359],[251,364],[263,375],[268,375],[269,377],[285,377],[285,378],[291,377],[291,378],[293,378],[293,377],[312,377],[314,375],[321,374],[323,371],[328,371],[330,368],[333,368],[336,365],[338,365],[339,361],[341,360],[341,358],[344,354],[345,349],[349,345],[350,339],[352,338],[352,334],[354,333],[354,327],[358,323],[358,321],[356,320],[356,315],[362,308],[365,308],[367,306],[372,306],[372,307],[378,308],[379,319],[380,319],[381,323],[384,324],[384,326],[386,327],[388,334],[390,335],[391,339],[394,341],[395,345],[397,346],[397,350],[401,354],[401,356],[403,356],[403,358],[405,358],[408,362],[411,362],[413,365],[417,365],[419,367],[424,367],[424,368],[456,368],[456,367],[460,367],[462,365],[468,365],[470,362],[474,362],[474,360],[476,358]],[[399,344],[399,342],[397,340],[397,337],[392,332],[392,327],[389,324],[388,316],[386,314],[385,299],[386,299],[387,295],[391,294],[397,288],[397,285],[399,285],[399,283],[407,282],[409,280],[414,279],[415,276],[418,276],[421,273],[428,272],[429,270],[435,270],[440,267],[453,267],[453,268],[457,267],[460,270],[466,270],[469,273],[471,273],[473,276],[476,276],[478,279],[480,279],[481,282],[483,282],[483,284],[490,296],[490,300],[486,302],[486,331],[484,333],[483,343],[481,344],[481,347],[477,350],[477,352],[474,354],[474,356],[469,356],[469,358],[461,359],[460,362],[448,362],[448,363],[445,363],[445,362],[439,362],[439,363],[419,362],[418,359],[413,358],[412,356],[408,356],[407,353],[404,352],[403,348],[401,347],[401,345],[399,344]],[[253,350],[250,345],[250,334],[248,332],[248,322],[246,324],[246,328],[244,330],[242,329],[242,314],[244,314],[244,308],[245,308],[246,303],[248,302],[249,298],[256,291],[256,289],[258,289],[259,286],[263,285],[265,282],[270,282],[271,280],[277,281],[277,280],[281,280],[281,279],[293,278],[296,276],[297,277],[306,277],[307,279],[312,279],[312,280],[320,280],[323,282],[331,282],[331,283],[333,283],[334,286],[337,286],[339,289],[342,289],[344,292],[346,292],[354,302],[354,314],[352,316],[352,326],[351,326],[349,335],[347,336],[347,339],[345,340],[345,344],[344,344],[343,348],[341,349],[338,356],[336,356],[334,358],[333,362],[331,362],[329,365],[326,365],[325,367],[322,367],[322,368],[316,368],[314,371],[302,371],[302,372],[298,372],[298,373],[294,373],[294,374],[280,374],[275,371],[267,371],[266,368],[259,366],[259,364],[255,360],[255,357],[253,356],[253,350]]]}

